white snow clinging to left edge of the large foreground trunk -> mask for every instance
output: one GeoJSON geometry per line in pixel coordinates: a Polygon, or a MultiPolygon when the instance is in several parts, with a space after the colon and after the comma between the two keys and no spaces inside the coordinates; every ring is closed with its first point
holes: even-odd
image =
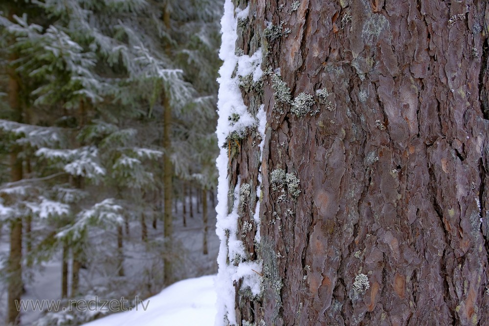
{"type": "MultiPolygon", "coordinates": [[[[226,144],[228,138],[233,133],[244,136],[246,130],[255,127],[261,135],[262,141],[260,150],[263,150],[265,141],[266,114],[264,106],[260,107],[256,117],[253,117],[248,108],[244,105],[242,92],[239,87],[240,77],[251,76],[253,82],[258,82],[263,75],[262,49],[258,49],[251,56],[239,55],[236,51],[236,40],[238,38],[237,28],[238,20],[248,16],[249,6],[244,10],[236,9],[231,0],[226,0],[224,4],[224,15],[221,20],[222,26],[222,46],[219,53],[223,61],[219,70],[218,78],[219,100],[218,100],[218,126],[217,136],[219,145],[226,144]],[[236,76],[233,72],[236,70],[236,76]],[[235,119],[229,119],[235,117],[235,119]]],[[[235,315],[235,289],[234,281],[243,280],[243,287],[250,289],[253,295],[260,294],[262,278],[258,273],[262,270],[262,262],[241,261],[240,257],[245,257],[244,245],[241,239],[238,239],[238,207],[239,207],[239,189],[241,178],[239,178],[235,189],[229,189],[227,180],[228,175],[228,149],[226,146],[221,148],[217,158],[217,167],[219,170],[218,185],[218,204],[217,211],[217,234],[221,240],[218,263],[219,272],[216,281],[218,293],[218,315],[216,317],[216,326],[221,326],[224,320],[235,325],[237,324],[235,315]],[[234,195],[233,210],[228,214],[228,194],[234,195]],[[230,263],[227,263],[229,260],[230,263]],[[237,264],[237,266],[235,266],[237,264]]],[[[258,179],[261,182],[261,176],[258,179]]],[[[260,196],[260,187],[257,187],[257,195],[260,196]]],[[[254,220],[257,223],[257,233],[255,239],[260,241],[260,218],[259,204],[257,201],[254,220]]]]}

